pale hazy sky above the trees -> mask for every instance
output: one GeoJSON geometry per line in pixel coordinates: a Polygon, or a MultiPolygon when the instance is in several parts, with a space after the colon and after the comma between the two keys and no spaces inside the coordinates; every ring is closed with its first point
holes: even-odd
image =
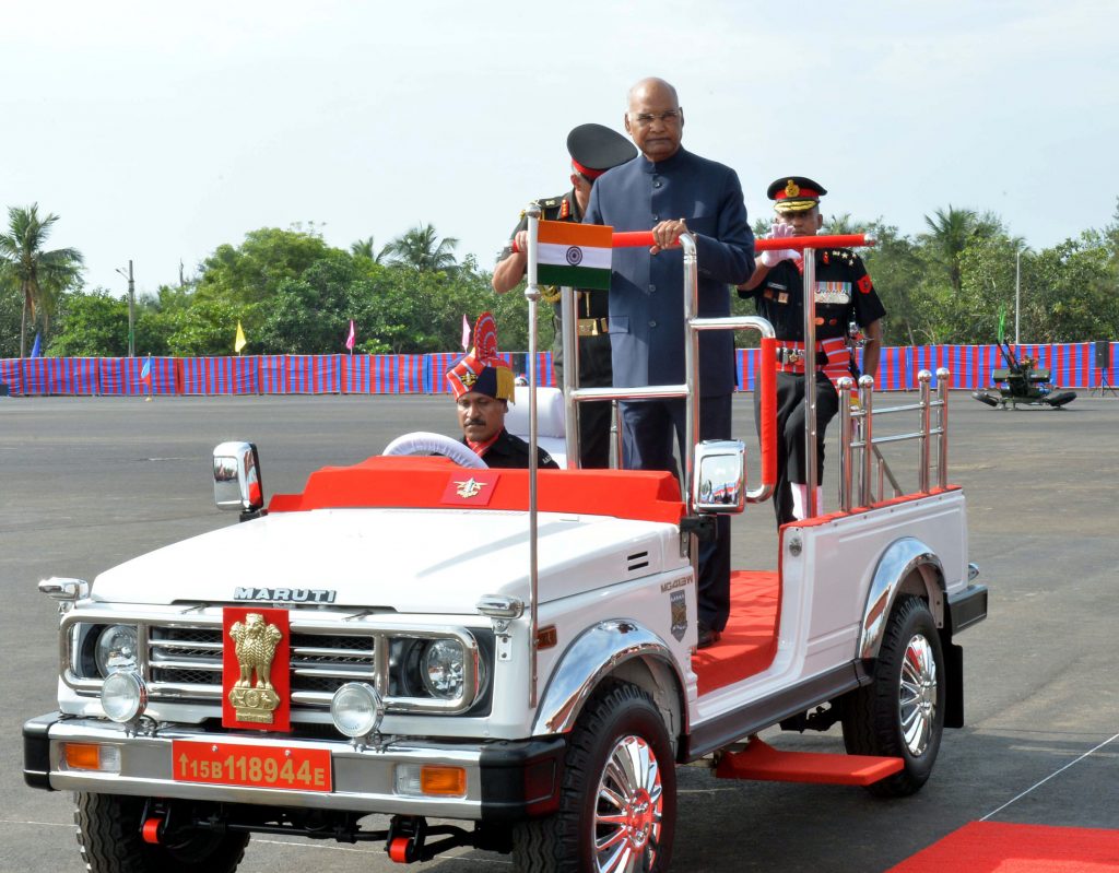
{"type": "Polygon", "coordinates": [[[1119,195],[1113,0],[563,4],[0,0],[0,206],[139,290],[262,226],[347,247],[430,222],[492,264],[575,124],[659,75],[751,218],[806,175],[903,233],[949,204],[1037,248],[1119,195]]]}

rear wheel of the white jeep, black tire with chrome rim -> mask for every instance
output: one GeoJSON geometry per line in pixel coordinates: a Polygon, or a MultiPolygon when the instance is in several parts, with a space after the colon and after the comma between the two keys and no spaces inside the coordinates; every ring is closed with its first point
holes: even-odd
{"type": "Polygon", "coordinates": [[[932,775],[944,730],[947,677],[940,633],[928,604],[901,597],[894,604],[874,680],[844,700],[848,754],[901,758],[905,767],[867,787],[880,797],[915,794],[932,775]]]}

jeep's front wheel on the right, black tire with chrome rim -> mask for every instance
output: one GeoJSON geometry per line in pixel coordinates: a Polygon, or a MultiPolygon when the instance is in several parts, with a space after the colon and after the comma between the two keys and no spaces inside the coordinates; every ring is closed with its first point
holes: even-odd
{"type": "Polygon", "coordinates": [[[595,693],[572,730],[560,809],[514,828],[516,870],[668,870],[676,764],[660,712],[629,683],[595,693]]]}

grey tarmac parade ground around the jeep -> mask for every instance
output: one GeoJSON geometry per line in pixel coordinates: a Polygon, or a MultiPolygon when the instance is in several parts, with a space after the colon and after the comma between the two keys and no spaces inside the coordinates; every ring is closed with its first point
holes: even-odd
{"type": "MultiPolygon", "coordinates": [[[[876,421],[875,433],[901,417],[876,421]]],[[[950,420],[949,480],[967,494],[969,558],[990,590],[989,618],[959,640],[967,725],[946,732],[932,779],[903,800],[681,768],[674,871],[884,871],[978,819],[1119,828],[1119,398],[1081,392],[1061,411],[1003,411],[960,392],[950,420]]],[[[753,440],[749,396],[736,401],[735,421],[737,434],[753,440]]],[[[912,430],[915,420],[894,426],[912,430]]],[[[27,788],[21,775],[22,722],[55,708],[57,616],[38,580],[92,580],[133,555],[235,523],[213,505],[210,452],[224,440],[258,444],[265,490],[274,494],[298,491],[318,467],[354,463],[420,430],[454,432],[448,398],[0,397],[0,639],[10,661],[0,672],[0,873],[83,867],[72,797],[27,788]]],[[[837,432],[833,424],[826,508],[835,505],[837,432]]],[[[915,470],[915,448],[908,451],[909,461],[887,456],[893,469],[915,470]]],[[[735,519],[735,566],[775,566],[773,526],[768,505],[735,519]]],[[[784,734],[782,743],[843,749],[838,728],[784,734]]],[[[239,870],[392,866],[379,844],[261,837],[239,870]]],[[[479,873],[511,863],[457,849],[424,869],[479,873]]]]}

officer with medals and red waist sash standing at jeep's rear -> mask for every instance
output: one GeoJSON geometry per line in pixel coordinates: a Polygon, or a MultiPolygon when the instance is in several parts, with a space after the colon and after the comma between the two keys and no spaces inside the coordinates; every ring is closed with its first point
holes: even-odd
{"type": "MultiPolygon", "coordinates": [[[[777,220],[771,238],[815,236],[822,227],[820,197],[827,191],[805,176],[782,176],[767,191],[777,220]]],[[[850,325],[866,334],[863,368],[874,375],[882,351],[881,319],[886,313],[862,259],[849,248],[816,248],[816,430],[819,470],[824,471],[824,434],[839,410],[836,382],[850,376],[847,348],[850,325]]],[[[805,315],[803,261],[794,250],[762,252],[753,275],[739,295],[754,298],[758,313],[773,325],[778,339],[778,468],[773,509],[778,525],[803,518],[805,485],[805,315]]],[[[756,404],[758,393],[754,393],[756,404]]],[[[817,507],[821,506],[817,489],[817,507]]]]}

